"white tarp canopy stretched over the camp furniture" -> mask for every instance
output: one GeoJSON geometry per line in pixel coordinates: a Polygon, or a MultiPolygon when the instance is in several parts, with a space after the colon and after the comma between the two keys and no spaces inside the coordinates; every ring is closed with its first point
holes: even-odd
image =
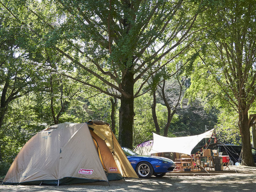
{"type": "Polygon", "coordinates": [[[176,152],[191,154],[191,151],[204,138],[210,138],[214,129],[200,135],[187,137],[164,137],[153,133],[153,146],[149,154],[162,152],[176,152]]]}

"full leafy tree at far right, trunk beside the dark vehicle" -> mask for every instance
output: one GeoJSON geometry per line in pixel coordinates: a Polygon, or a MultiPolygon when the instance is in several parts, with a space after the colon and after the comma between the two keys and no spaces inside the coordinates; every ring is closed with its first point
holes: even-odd
{"type": "Polygon", "coordinates": [[[207,28],[189,90],[200,90],[211,104],[237,112],[243,163],[254,166],[250,127],[256,124],[256,115],[249,110],[256,96],[256,6],[227,0],[213,10],[202,17],[207,28]]]}

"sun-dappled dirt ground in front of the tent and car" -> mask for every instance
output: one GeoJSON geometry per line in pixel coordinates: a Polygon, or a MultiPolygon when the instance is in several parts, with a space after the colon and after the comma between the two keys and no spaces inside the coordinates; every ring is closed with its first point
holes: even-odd
{"type": "Polygon", "coordinates": [[[223,171],[218,173],[200,173],[194,172],[188,176],[171,173],[166,174],[163,178],[152,176],[150,179],[126,179],[119,181],[95,182],[76,185],[62,186],[0,186],[1,192],[133,192],[133,191],[256,191],[256,167],[229,166],[233,172],[223,171]]]}

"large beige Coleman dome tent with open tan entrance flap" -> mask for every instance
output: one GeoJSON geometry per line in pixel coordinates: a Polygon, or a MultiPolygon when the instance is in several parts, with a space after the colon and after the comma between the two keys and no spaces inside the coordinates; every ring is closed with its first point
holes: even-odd
{"type": "Polygon", "coordinates": [[[138,178],[109,125],[90,123],[57,124],[38,132],[20,150],[3,184],[65,185],[138,178]]]}

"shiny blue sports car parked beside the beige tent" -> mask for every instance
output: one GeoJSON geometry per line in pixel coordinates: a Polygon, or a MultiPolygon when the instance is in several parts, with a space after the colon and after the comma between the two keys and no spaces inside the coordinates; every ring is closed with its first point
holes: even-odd
{"type": "Polygon", "coordinates": [[[171,172],[175,167],[171,159],[157,156],[141,156],[129,148],[122,147],[122,149],[140,178],[149,178],[152,175],[163,177],[166,172],[171,172]]]}

